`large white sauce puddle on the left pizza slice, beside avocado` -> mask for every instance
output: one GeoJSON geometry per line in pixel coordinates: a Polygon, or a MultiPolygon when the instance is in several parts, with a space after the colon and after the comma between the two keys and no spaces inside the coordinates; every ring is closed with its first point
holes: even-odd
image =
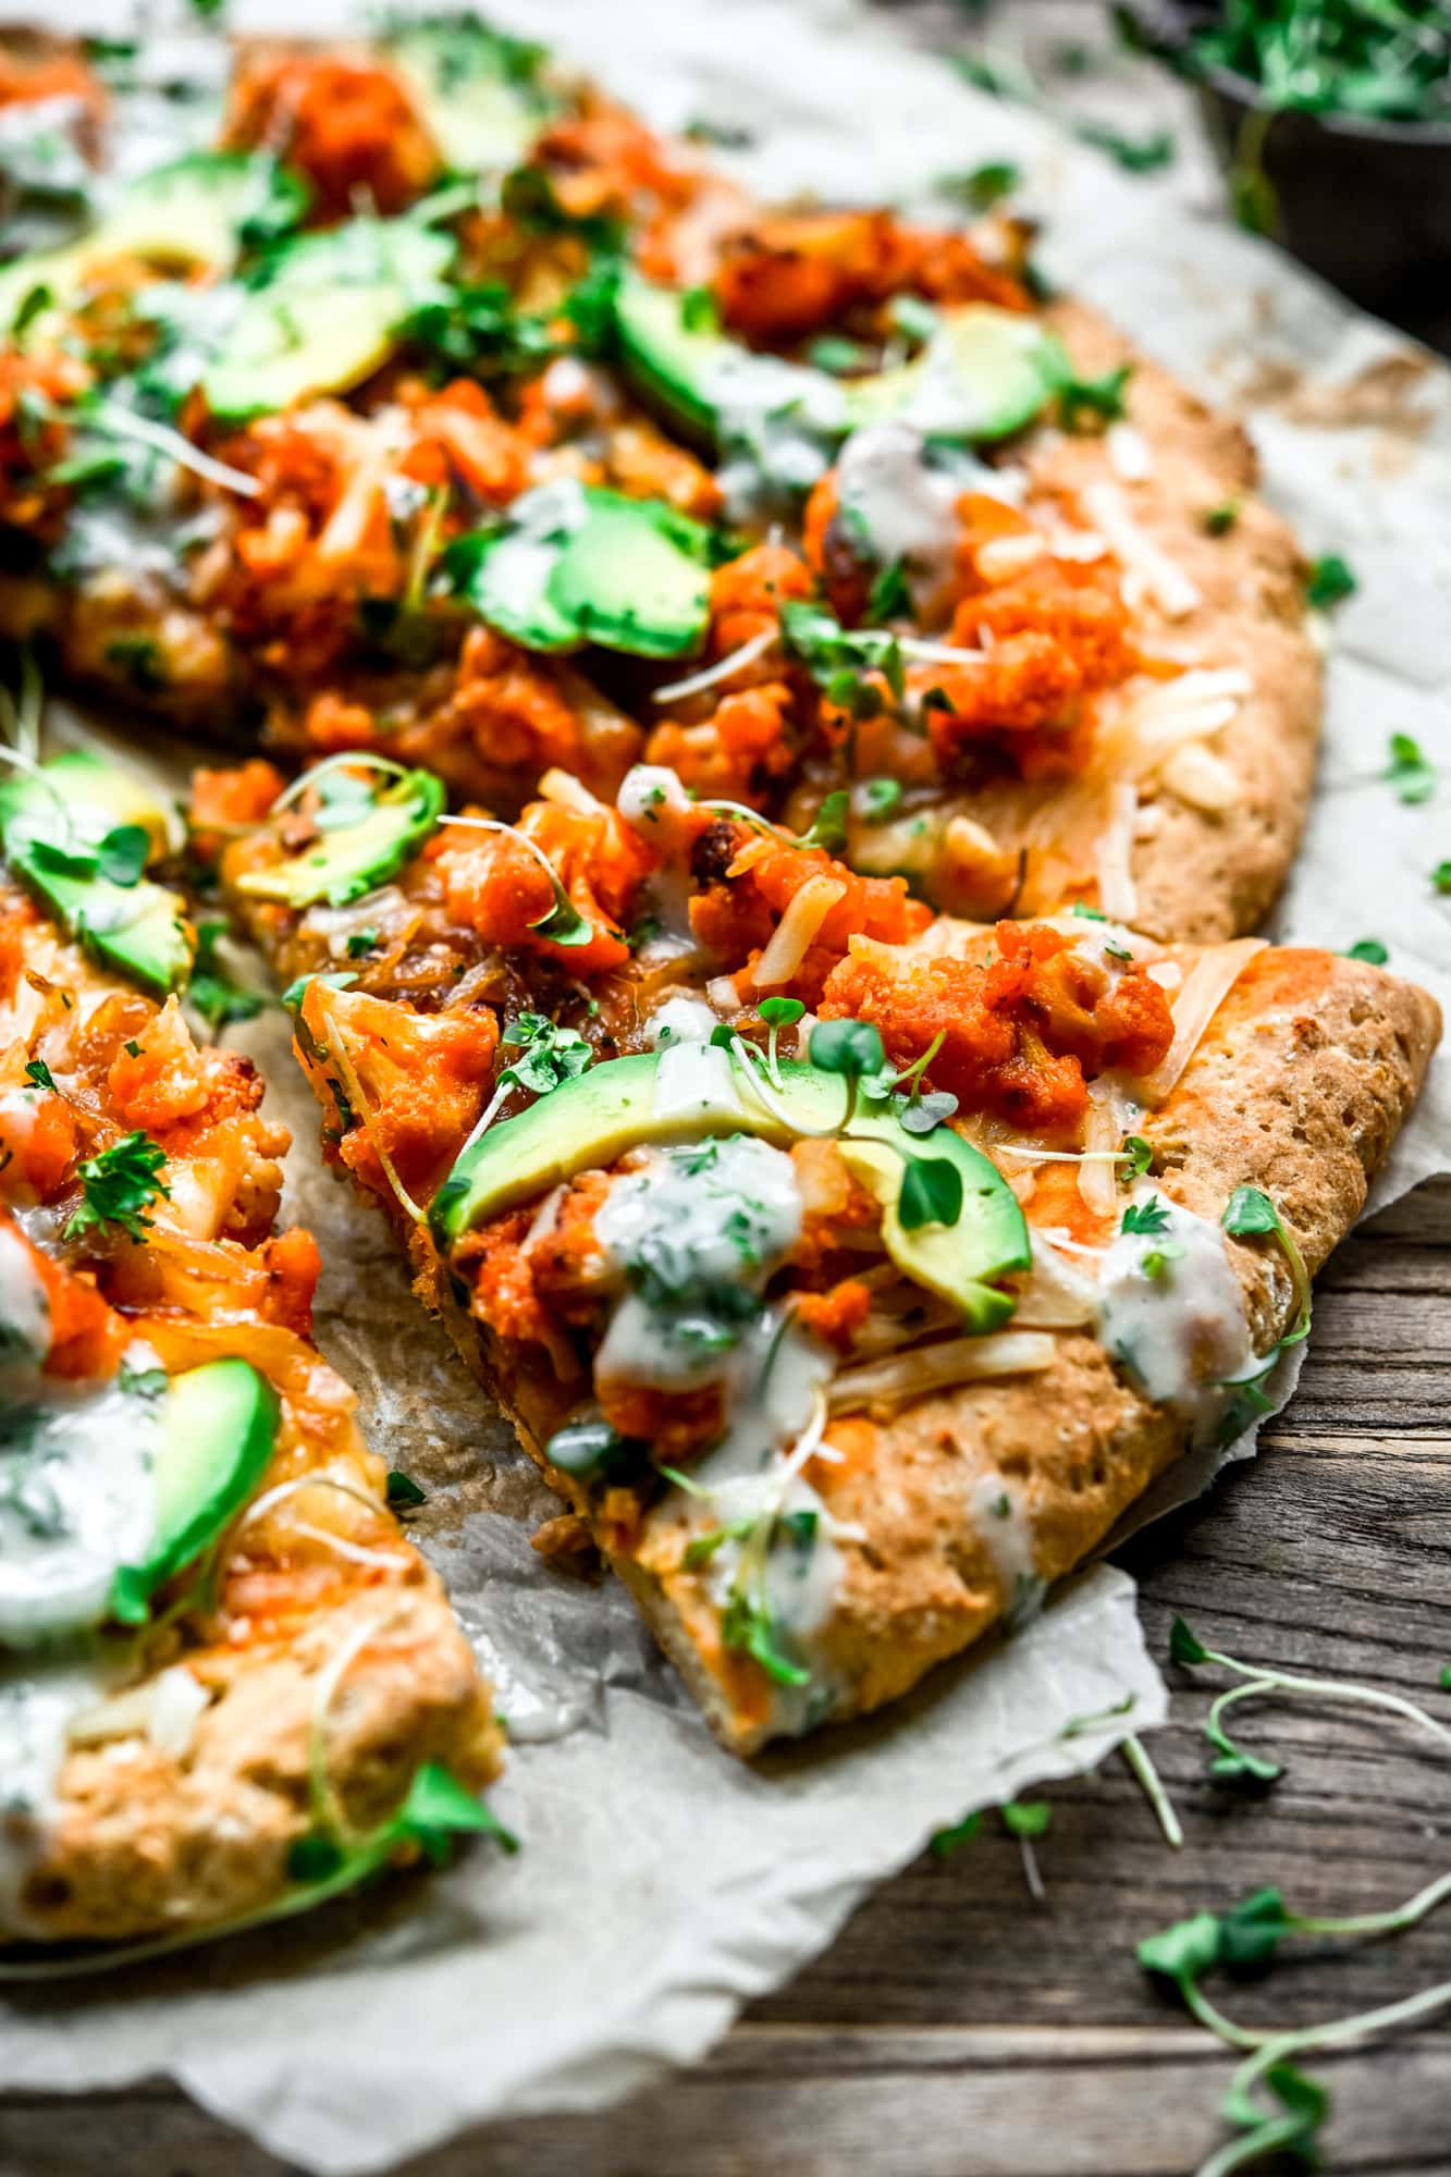
{"type": "Polygon", "coordinates": [[[100,1624],[120,1567],[146,1559],[161,1400],[133,1376],[157,1367],[137,1343],[105,1385],[0,1376],[0,1644],[100,1624]]]}

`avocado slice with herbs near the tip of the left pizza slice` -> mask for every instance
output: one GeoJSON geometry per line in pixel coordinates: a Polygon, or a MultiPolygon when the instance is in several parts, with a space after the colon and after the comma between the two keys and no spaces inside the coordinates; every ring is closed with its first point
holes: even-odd
{"type": "Polygon", "coordinates": [[[102,873],[107,842],[122,832],[144,832],[150,860],[166,845],[168,812],[100,755],[72,749],[39,775],[0,779],[0,845],[22,884],[96,958],[163,997],[192,973],[196,940],[179,893],[102,873]]]}

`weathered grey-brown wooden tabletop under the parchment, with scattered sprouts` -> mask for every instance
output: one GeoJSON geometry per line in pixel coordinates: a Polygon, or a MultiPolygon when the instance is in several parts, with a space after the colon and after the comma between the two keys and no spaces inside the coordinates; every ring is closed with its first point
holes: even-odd
{"type": "MultiPolygon", "coordinates": [[[[1451,1722],[1438,1689],[1451,1661],[1449,1239],[1451,1182],[1431,1182],[1336,1256],[1301,1391],[1259,1459],[1131,1550],[1157,1655],[1181,1611],[1231,1655],[1392,1687],[1451,1722]]],[[[1447,1868],[1451,1761],[1410,1726],[1277,1702],[1244,1737],[1272,1746],[1285,1776],[1264,1800],[1229,1798],[1205,1781],[1209,1696],[1170,1676],[1183,1692],[1153,1755],[1181,1853],[1113,1759],[1048,1794],[1044,1905],[989,1820],[952,1859],[882,1890],[699,2070],[606,2118],[495,2127],[410,2177],[1187,2177],[1222,2136],[1231,2062],[1144,1979],[1133,1944],[1261,1883],[1316,1914],[1407,1898],[1447,1868]]],[[[1390,1942],[1320,1946],[1224,2001],[1301,2025],[1444,1979],[1451,1907],[1390,1942]]],[[[1312,2068],[1336,2096],[1336,2177],[1451,2170],[1451,2012],[1312,2068]]],[[[0,2177],[100,2170],[279,2177],[281,2164],[163,2086],[0,2105],[0,2177]]]]}

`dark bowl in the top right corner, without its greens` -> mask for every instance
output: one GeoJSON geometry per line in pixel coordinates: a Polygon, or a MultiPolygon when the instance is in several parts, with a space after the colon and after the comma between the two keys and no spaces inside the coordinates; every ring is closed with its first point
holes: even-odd
{"type": "Polygon", "coordinates": [[[1126,13],[1190,81],[1227,174],[1259,139],[1266,231],[1353,303],[1451,348],[1451,124],[1270,111],[1246,76],[1187,61],[1214,9],[1129,0],[1126,13]]]}

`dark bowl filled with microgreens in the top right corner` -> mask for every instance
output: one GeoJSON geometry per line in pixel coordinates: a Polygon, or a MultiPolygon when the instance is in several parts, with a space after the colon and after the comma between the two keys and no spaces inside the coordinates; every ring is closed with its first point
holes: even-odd
{"type": "Polygon", "coordinates": [[[1129,0],[1120,24],[1194,85],[1244,226],[1451,335],[1449,0],[1129,0]]]}

